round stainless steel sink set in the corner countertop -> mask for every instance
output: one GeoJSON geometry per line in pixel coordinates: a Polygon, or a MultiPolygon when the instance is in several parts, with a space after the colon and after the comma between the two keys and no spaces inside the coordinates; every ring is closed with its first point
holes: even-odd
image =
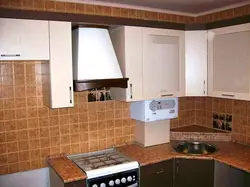
{"type": "Polygon", "coordinates": [[[187,155],[208,155],[216,152],[217,150],[215,145],[198,141],[179,142],[173,145],[173,149],[177,153],[187,155]]]}

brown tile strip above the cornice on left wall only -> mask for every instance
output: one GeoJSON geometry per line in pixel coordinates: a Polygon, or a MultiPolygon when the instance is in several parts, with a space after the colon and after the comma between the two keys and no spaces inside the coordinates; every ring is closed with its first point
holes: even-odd
{"type": "Polygon", "coordinates": [[[15,4],[10,3],[8,0],[0,0],[0,7],[8,9],[77,13],[84,15],[123,17],[178,23],[193,21],[193,18],[190,16],[181,16],[177,14],[50,0],[18,0],[18,3],[15,4]]]}

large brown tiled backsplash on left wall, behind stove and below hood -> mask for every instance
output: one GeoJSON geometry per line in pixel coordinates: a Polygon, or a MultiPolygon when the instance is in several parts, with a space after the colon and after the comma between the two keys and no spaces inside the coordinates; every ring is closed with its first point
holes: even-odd
{"type": "Polygon", "coordinates": [[[0,62],[0,174],[44,166],[45,156],[118,146],[134,140],[129,104],[87,102],[75,107],[43,105],[42,62],[0,62]]]}

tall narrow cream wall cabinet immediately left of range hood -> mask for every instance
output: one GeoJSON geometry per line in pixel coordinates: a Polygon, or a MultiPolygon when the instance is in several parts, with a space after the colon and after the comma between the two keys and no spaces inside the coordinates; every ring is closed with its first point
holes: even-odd
{"type": "Polygon", "coordinates": [[[70,22],[49,21],[50,61],[45,64],[44,102],[51,108],[73,107],[70,22]]]}

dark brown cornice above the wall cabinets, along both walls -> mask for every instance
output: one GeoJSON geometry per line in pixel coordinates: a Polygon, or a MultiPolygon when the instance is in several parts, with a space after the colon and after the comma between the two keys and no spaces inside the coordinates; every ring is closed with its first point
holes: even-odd
{"type": "MultiPolygon", "coordinates": [[[[48,5],[49,7],[52,5],[48,5]]],[[[62,9],[62,8],[61,8],[62,9]]],[[[108,8],[107,8],[108,9],[108,8]]],[[[101,8],[98,10],[102,11],[101,8]]],[[[128,9],[129,10],[129,9],[128,9]]],[[[132,15],[137,15],[134,11],[132,15]]],[[[167,28],[175,30],[208,30],[226,26],[232,26],[237,24],[250,23],[250,15],[241,15],[237,17],[225,17],[225,19],[210,19],[208,23],[196,23],[194,19],[164,19],[165,16],[156,16],[153,13],[145,13],[147,16],[145,19],[138,18],[136,16],[112,16],[109,14],[85,14],[80,10],[75,12],[65,11],[52,11],[52,8],[48,8],[48,11],[41,10],[20,10],[1,8],[0,17],[3,18],[20,18],[20,19],[38,19],[38,20],[54,20],[54,21],[70,21],[73,23],[91,23],[91,24],[107,24],[107,25],[128,25],[128,26],[142,26],[142,27],[155,27],[155,28],[167,28]],[[80,16],[81,15],[81,16],[80,16]],[[216,21],[217,20],[217,21],[216,21]]],[[[169,15],[170,16],[170,15],[169,15]]],[[[170,16],[171,17],[171,16],[170,16]]],[[[183,16],[179,16],[183,18],[183,16]]],[[[198,19],[198,18],[197,18],[198,19]]]]}

